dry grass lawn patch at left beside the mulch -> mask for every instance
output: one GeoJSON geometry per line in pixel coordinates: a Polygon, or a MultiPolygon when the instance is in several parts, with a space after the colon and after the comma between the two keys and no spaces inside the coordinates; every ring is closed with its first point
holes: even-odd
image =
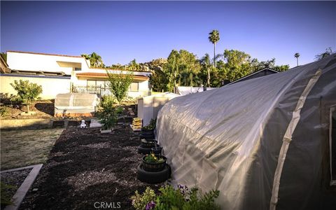
{"type": "Polygon", "coordinates": [[[44,163],[63,129],[1,131],[1,170],[44,163]]]}

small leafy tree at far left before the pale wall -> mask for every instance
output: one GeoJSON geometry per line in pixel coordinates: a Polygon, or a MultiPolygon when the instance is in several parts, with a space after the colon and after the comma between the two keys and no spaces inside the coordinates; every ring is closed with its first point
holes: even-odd
{"type": "Polygon", "coordinates": [[[29,80],[14,80],[14,83],[10,83],[10,85],[18,92],[18,100],[26,104],[27,113],[29,113],[29,105],[42,93],[42,86],[29,83],[29,80]]]}

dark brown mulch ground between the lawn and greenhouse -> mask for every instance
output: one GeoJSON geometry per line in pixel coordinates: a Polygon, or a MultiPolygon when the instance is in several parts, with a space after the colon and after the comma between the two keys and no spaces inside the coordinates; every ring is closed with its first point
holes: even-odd
{"type": "Polygon", "coordinates": [[[68,128],[50,152],[50,158],[20,209],[95,209],[95,202],[117,203],[132,209],[130,197],[150,185],[137,180],[139,138],[129,127],[114,134],[99,129],[68,128]]]}

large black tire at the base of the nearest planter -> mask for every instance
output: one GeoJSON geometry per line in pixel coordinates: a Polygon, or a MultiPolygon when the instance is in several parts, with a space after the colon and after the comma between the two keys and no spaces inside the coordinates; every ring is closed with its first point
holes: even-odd
{"type": "Polygon", "coordinates": [[[137,179],[145,183],[162,183],[169,179],[171,169],[169,165],[165,165],[165,168],[160,172],[146,172],[142,165],[139,165],[137,170],[137,179]]]}

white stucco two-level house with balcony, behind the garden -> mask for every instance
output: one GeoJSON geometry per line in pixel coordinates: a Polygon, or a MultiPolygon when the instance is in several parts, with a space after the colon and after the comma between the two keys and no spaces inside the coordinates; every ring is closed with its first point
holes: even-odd
{"type": "MultiPolygon", "coordinates": [[[[107,88],[106,69],[90,67],[90,61],[80,56],[55,55],[36,52],[7,51],[9,71],[0,74],[1,93],[15,94],[10,83],[29,80],[42,85],[43,99],[53,99],[66,92],[111,94],[107,88]]],[[[151,71],[121,71],[107,69],[109,73],[133,73],[128,97],[148,95],[151,71]]]]}

